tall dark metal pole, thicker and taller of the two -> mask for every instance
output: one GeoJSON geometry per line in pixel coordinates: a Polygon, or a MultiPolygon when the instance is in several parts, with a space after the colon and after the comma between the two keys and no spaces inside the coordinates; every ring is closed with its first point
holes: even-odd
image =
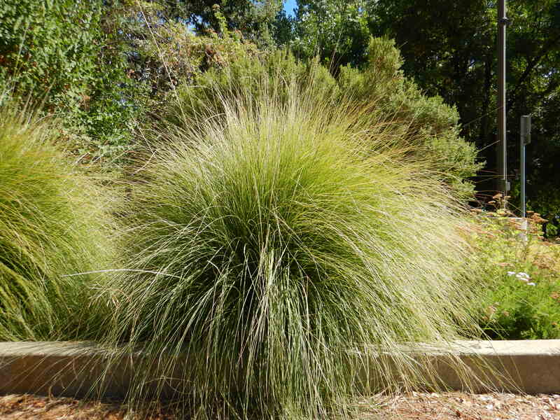
{"type": "Polygon", "coordinates": [[[505,139],[505,0],[498,1],[498,191],[503,196],[510,189],[507,182],[507,143],[505,139]]]}

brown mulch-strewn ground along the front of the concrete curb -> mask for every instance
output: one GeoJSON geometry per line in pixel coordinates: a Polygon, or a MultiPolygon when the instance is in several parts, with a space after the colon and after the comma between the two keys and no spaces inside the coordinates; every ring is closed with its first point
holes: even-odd
{"type": "MultiPolygon", "coordinates": [[[[560,420],[560,395],[407,393],[357,402],[356,420],[560,420]]],[[[0,396],[1,420],[177,420],[169,410],[131,412],[119,402],[0,396]]]]}

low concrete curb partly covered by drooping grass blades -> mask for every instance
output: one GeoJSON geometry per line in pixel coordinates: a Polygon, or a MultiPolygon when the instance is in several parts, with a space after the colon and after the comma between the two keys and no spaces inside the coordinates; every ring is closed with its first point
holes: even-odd
{"type": "MultiPolygon", "coordinates": [[[[461,341],[425,349],[414,358],[435,372],[437,384],[450,389],[560,393],[560,339],[461,341]],[[463,362],[463,374],[451,359],[463,362]],[[465,372],[478,379],[465,379],[465,372]]],[[[102,379],[102,395],[126,395],[138,360],[138,355],[130,355],[114,363],[111,376],[102,379]]],[[[87,395],[99,388],[107,363],[107,353],[92,343],[0,342],[0,393],[87,395]]]]}

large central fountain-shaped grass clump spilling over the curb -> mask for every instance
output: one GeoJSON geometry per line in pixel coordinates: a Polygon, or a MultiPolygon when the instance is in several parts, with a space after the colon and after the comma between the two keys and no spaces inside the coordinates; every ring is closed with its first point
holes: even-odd
{"type": "Polygon", "coordinates": [[[224,99],[144,165],[107,339],[115,360],[143,349],[133,400],[171,386],[209,418],[344,414],[370,346],[407,386],[421,375],[401,344],[473,328],[462,210],[380,130],[307,94],[224,99]]]}

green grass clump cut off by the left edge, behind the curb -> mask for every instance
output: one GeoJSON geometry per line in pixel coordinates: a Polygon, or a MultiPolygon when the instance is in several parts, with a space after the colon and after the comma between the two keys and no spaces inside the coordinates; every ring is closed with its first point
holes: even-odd
{"type": "Polygon", "coordinates": [[[112,245],[107,200],[55,146],[56,127],[0,108],[0,339],[89,339],[92,275],[112,245]]]}

